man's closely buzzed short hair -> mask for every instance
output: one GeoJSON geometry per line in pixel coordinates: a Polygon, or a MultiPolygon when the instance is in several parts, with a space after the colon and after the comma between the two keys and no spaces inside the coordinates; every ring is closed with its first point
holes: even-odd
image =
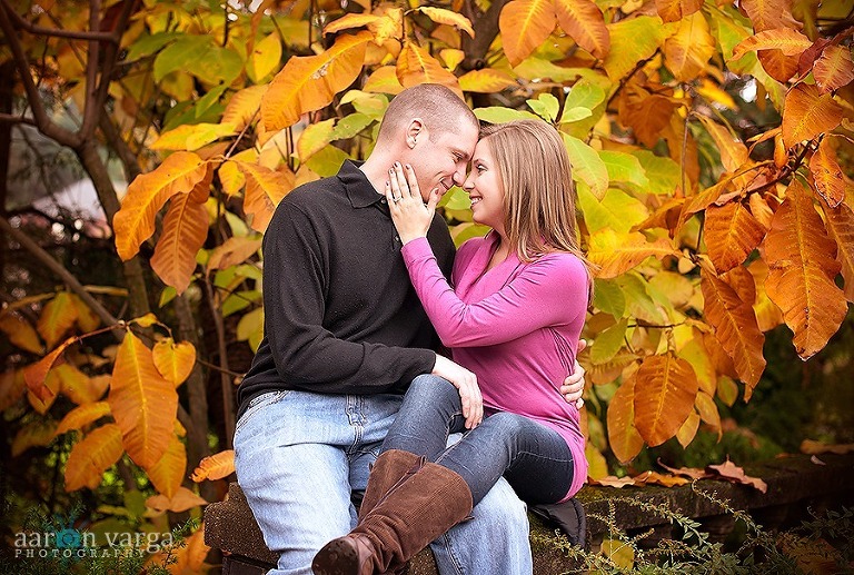
{"type": "Polygon", "coordinates": [[[379,126],[378,141],[391,138],[413,118],[420,118],[434,135],[450,131],[458,133],[459,125],[470,122],[479,127],[477,117],[466,102],[450,88],[438,83],[420,83],[401,91],[391,100],[379,126]]]}

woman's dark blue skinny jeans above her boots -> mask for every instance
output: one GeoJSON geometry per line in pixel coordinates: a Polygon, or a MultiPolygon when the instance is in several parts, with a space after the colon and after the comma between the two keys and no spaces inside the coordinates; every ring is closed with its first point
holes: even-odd
{"type": "Polygon", "coordinates": [[[448,435],[457,432],[465,432],[457,389],[439,377],[418,376],[404,396],[383,450],[424,455],[458,473],[475,503],[502,476],[528,503],[556,503],[569,490],[573,455],[554,429],[522,415],[498,412],[446,447],[448,435]]]}

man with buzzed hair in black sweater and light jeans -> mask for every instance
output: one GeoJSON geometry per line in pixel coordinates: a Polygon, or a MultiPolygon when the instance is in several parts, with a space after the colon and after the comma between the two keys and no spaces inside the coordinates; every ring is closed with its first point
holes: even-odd
{"type": "MultiPolygon", "coordinates": [[[[238,391],[236,467],[277,574],[310,574],[314,555],[356,524],[351,490],[420,374],[453,383],[471,416],[474,374],[437,355],[383,195],[395,161],[423,190],[465,178],[478,122],[453,91],[423,85],[389,105],[360,167],[301,186],[278,206],[264,240],[265,338],[238,391]]],[[[428,240],[449,275],[454,245],[437,217],[428,240]]],[[[582,370],[562,389],[580,397],[582,370]],[[579,385],[579,381],[580,385],[579,385]]],[[[434,542],[443,575],[532,573],[525,505],[500,482],[463,523],[434,542]]]]}

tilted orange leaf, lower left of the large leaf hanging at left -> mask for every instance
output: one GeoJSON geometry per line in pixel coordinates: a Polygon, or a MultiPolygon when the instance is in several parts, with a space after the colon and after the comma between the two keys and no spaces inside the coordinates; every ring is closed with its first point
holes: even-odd
{"type": "Polygon", "coordinates": [[[66,490],[81,487],[95,489],[103,479],[103,472],[119,460],[122,454],[121,429],[107,424],[92,430],[75,444],[66,464],[66,490]]]}

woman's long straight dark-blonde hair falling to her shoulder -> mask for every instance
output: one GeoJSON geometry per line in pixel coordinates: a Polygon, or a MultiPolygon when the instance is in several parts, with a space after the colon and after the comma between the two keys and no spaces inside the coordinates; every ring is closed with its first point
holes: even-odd
{"type": "Polygon", "coordinates": [[[575,185],[560,135],[539,120],[480,128],[504,188],[504,230],[522,261],[549,251],[568,251],[589,262],[578,247],[575,185]]]}

